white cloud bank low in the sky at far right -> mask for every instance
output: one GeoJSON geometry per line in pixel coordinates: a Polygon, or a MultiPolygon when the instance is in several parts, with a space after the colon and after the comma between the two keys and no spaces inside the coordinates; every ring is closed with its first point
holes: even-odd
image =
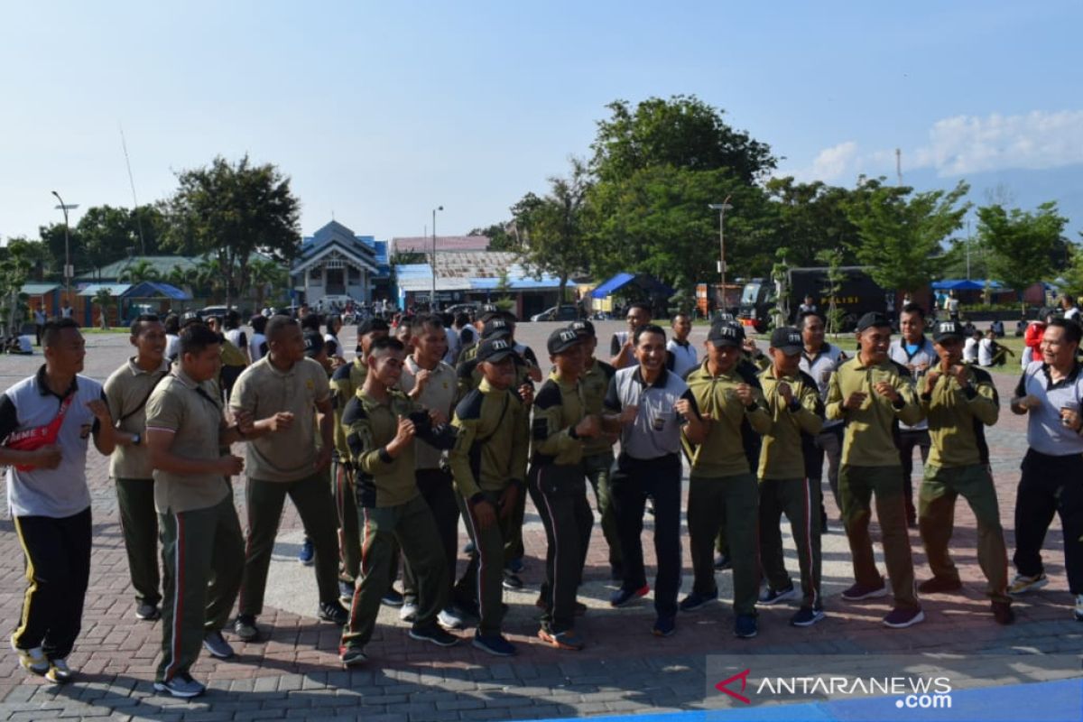
{"type": "MultiPolygon", "coordinates": [[[[929,142],[903,148],[903,172],[940,176],[1083,163],[1083,110],[1032,110],[1004,116],[954,116],[929,129],[929,142]]],[[[849,182],[859,174],[892,175],[895,149],[862,152],[853,141],[821,150],[807,168],[785,170],[799,181],[849,182]]]]}

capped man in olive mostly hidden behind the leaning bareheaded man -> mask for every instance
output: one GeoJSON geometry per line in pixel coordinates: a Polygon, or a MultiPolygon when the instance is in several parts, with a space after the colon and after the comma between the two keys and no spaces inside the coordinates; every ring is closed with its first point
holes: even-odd
{"type": "MultiPolygon", "coordinates": [[[[357,501],[353,491],[353,470],[350,468],[350,447],[345,443],[342,412],[357,390],[365,384],[368,366],[365,356],[373,341],[388,336],[386,320],[366,318],[357,326],[357,355],[352,364],[339,366],[331,376],[331,402],[335,406],[335,454],[331,457],[331,493],[338,516],[339,535],[339,598],[343,604],[353,599],[357,567],[361,565],[361,531],[357,528],[357,501]]],[[[397,576],[397,563],[388,575],[397,576]]],[[[394,576],[391,576],[394,582],[394,576]]],[[[389,585],[390,588],[390,585],[389,585]]]]}

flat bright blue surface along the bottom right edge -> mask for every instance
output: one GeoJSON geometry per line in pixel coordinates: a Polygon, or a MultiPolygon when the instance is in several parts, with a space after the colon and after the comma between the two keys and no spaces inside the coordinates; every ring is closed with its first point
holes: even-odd
{"type": "Polygon", "coordinates": [[[723,710],[595,717],[592,722],[1080,722],[1083,680],[1009,684],[951,693],[950,709],[898,707],[898,697],[769,705],[723,710]]]}

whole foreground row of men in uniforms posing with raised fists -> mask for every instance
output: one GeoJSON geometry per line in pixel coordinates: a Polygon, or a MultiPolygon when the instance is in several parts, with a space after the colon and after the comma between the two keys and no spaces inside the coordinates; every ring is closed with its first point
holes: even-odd
{"type": "MultiPolygon", "coordinates": [[[[903,315],[918,312],[908,306],[903,315]]],[[[287,496],[314,548],[317,615],[343,627],[340,657],[348,667],[366,661],[383,603],[401,604],[416,640],[454,645],[460,638],[449,630],[477,617],[474,646],[514,654],[504,634],[503,590],[522,585],[517,565],[527,496],[548,541],[537,635],[557,648],[583,648],[575,619],[584,612],[576,592],[593,525],[588,482],[619,582],[613,606],[650,592],[641,536],[652,504],[654,634],[673,634],[678,612],[717,599],[720,534],[733,569],[734,634],[756,635],[758,604],[794,599],[799,608],[791,623],[811,626],[824,616],[824,456],[853,562],[854,583],[843,599],[888,593],[869,534],[875,499],[893,594],[884,623],[910,627],[924,614],[899,454],[908,431],[921,432],[917,446],[928,439],[915,516],[934,576],[916,590],[961,586],[948,546],[962,495],[978,518],[978,557],[995,619],[1013,620],[1009,593],[1046,583],[1040,551],[1057,512],[1075,615],[1083,619],[1077,549],[1083,542],[1072,541],[1083,535],[1083,495],[1065,484],[1078,477],[1083,458],[1083,376],[1074,356],[1080,327],[1073,321],[1049,325],[1043,359],[1027,368],[1012,401],[1014,412],[1029,413],[1031,448],[1016,508],[1019,574],[1009,588],[983,435],[997,420],[999,399],[986,371],[961,363],[957,321],[938,323],[929,344],[922,316],[917,333],[904,328],[902,341],[891,344],[889,319],[867,314],[858,324],[858,351],[847,359],[824,342],[823,319],[810,313],[799,328],[777,329],[757,366],[736,323],[712,326],[701,363],[687,341],[687,317],[675,319],[674,345],[649,310],[634,306],[630,314],[629,331],[611,347],[614,365],[595,358],[589,321],[554,331],[544,381],[533,352],[514,340],[513,318],[496,309],[481,316],[480,340],[464,351],[457,369],[442,360],[439,316],[412,320],[409,349],[390,338],[386,323],[365,321],[356,358],[336,370],[318,333],[309,338],[296,320],[275,316],[265,329],[268,354],[236,379],[229,409],[216,381],[221,337],[201,323],[181,330],[170,365],[161,324],[141,316],[131,329],[135,355],[104,388],[78,373],[84,352],[75,324],[45,324],[45,365],[0,399],[0,462],[11,464],[9,499],[29,581],[12,638],[21,664],[56,682],[73,673],[65,659],[78,634],[89,569],[84,457],[91,435],[113,456],[135,614],[162,621],[155,687],[179,697],[205,690],[188,671],[200,646],[233,656],[221,630],[238,598],[236,635],[264,636],[257,620],[287,496]],[[683,378],[675,364],[687,369],[683,378]],[[234,443],[245,444],[245,459],[230,452],[234,443]],[[691,469],[694,582],[678,601],[682,456],[691,469]],[[242,471],[244,533],[230,483],[242,471]],[[799,592],[783,563],[782,514],[797,547],[799,592]],[[460,516],[472,550],[456,579],[460,516]],[[396,600],[400,556],[404,593],[396,600]],[[56,569],[64,574],[52,574],[56,569]]]]}

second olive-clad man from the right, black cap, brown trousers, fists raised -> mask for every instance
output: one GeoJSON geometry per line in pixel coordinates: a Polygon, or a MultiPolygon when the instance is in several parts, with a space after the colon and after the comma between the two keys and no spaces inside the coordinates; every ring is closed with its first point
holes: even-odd
{"type": "Polygon", "coordinates": [[[910,371],[888,357],[890,341],[887,316],[867,313],[861,317],[858,354],[831,377],[826,413],[828,419],[846,422],[838,496],[853,555],[854,583],[843,592],[843,599],[859,602],[887,595],[869,536],[870,504],[875,494],[884,560],[895,595],[895,608],[884,618],[884,626],[903,629],[923,621],[925,614],[914,593],[914,561],[895,431],[899,421],[915,424],[922,418],[922,407],[910,371]]]}

